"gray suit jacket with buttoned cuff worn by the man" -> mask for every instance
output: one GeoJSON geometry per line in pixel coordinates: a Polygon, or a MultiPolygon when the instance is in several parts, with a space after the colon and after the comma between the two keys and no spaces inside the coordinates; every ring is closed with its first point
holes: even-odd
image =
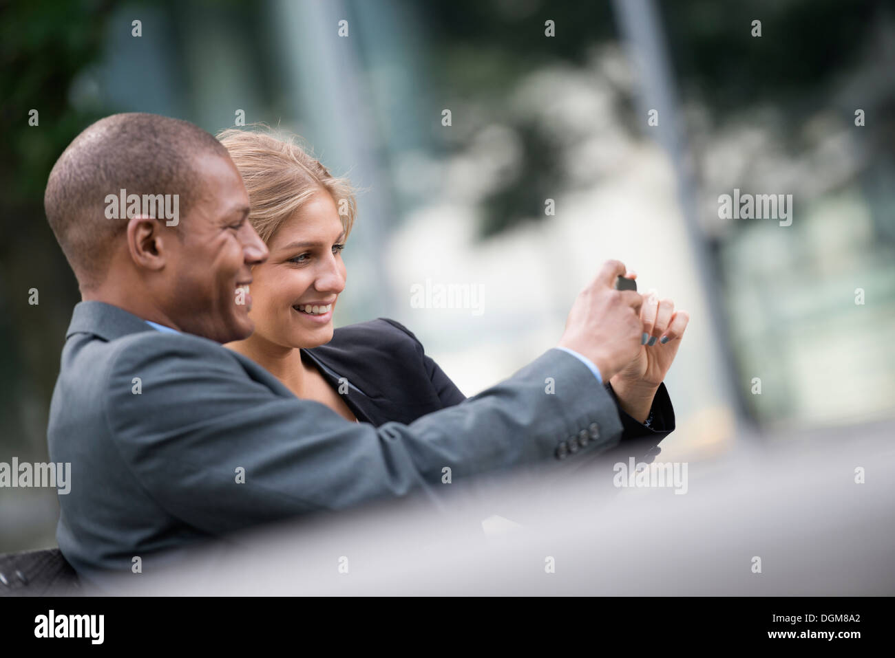
{"type": "Polygon", "coordinates": [[[129,570],[135,556],[146,569],[241,528],[440,487],[445,467],[456,482],[577,460],[621,433],[609,392],[562,350],[456,406],[376,427],[299,400],[217,342],[81,302],[47,428],[51,460],[72,464],[56,539],[82,576],[129,570]]]}

